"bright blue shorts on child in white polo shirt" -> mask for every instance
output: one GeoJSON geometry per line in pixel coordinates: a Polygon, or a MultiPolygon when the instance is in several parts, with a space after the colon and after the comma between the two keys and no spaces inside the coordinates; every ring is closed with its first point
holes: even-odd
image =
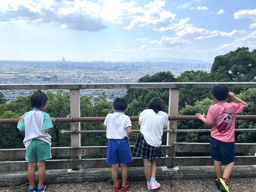
{"type": "Polygon", "coordinates": [[[109,139],[106,162],[111,164],[132,162],[130,143],[127,138],[109,139]]]}

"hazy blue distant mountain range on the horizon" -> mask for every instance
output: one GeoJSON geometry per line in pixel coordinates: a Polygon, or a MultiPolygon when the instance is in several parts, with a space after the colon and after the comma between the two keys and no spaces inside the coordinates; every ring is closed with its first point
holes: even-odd
{"type": "Polygon", "coordinates": [[[152,61],[152,62],[156,62],[156,61],[172,61],[172,62],[185,62],[185,63],[212,63],[212,61],[200,61],[200,60],[192,60],[192,59],[176,59],[176,58],[168,58],[168,57],[159,57],[159,58],[144,58],[144,59],[128,59],[125,61],[152,61]]]}

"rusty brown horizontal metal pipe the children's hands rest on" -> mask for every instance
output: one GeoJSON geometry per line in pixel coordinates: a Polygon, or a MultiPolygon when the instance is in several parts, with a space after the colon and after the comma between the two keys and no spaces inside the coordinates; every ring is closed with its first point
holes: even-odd
{"type": "MultiPolygon", "coordinates": [[[[206,117],[206,116],[205,116],[206,117]]],[[[71,123],[71,122],[103,122],[106,117],[67,117],[56,118],[56,122],[59,123],[71,123]]],[[[131,121],[139,121],[139,117],[131,116],[131,121]]],[[[170,116],[170,121],[175,120],[198,120],[193,115],[177,115],[170,116]]],[[[237,115],[236,120],[256,120],[256,115],[237,115]]],[[[17,124],[19,119],[0,119],[0,124],[17,124]]]]}

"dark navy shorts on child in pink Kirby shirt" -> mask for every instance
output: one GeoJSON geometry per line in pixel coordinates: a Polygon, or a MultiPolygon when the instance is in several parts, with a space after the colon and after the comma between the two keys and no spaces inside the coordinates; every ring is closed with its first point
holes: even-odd
{"type": "Polygon", "coordinates": [[[232,163],[236,160],[235,142],[221,142],[211,136],[210,140],[211,157],[224,164],[232,163]]]}

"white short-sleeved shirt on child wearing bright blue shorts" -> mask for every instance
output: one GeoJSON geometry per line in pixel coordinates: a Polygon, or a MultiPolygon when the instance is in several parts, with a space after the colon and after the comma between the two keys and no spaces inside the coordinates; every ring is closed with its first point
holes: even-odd
{"type": "Polygon", "coordinates": [[[108,139],[124,139],[128,138],[127,128],[132,127],[130,118],[122,111],[115,111],[106,116],[104,125],[107,127],[108,139]]]}

